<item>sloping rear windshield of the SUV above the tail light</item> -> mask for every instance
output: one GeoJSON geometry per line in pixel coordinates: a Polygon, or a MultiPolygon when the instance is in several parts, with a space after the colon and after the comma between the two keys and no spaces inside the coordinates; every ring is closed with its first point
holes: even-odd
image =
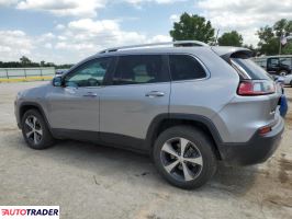
{"type": "Polygon", "coordinates": [[[268,74],[268,72],[255,64],[251,59],[232,58],[232,61],[236,64],[234,66],[237,70],[244,71],[240,73],[240,76],[245,79],[250,78],[254,80],[271,80],[271,77],[268,74]],[[248,77],[245,77],[245,74],[248,74],[248,77]]]}

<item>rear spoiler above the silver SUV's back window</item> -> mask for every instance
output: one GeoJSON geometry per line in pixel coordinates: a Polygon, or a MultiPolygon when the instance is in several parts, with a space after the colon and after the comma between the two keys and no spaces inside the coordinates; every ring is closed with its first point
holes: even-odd
{"type": "Polygon", "coordinates": [[[229,47],[229,46],[212,46],[211,49],[217,54],[225,61],[229,62],[231,58],[251,58],[254,51],[242,48],[242,47],[229,47]]]}

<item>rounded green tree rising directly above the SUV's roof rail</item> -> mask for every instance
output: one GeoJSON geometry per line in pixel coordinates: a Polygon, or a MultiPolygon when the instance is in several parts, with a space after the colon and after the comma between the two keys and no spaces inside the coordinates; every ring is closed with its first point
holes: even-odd
{"type": "Polygon", "coordinates": [[[181,14],[179,22],[173,23],[173,30],[169,33],[173,41],[214,42],[214,28],[211,22],[203,16],[186,12],[181,14]]]}

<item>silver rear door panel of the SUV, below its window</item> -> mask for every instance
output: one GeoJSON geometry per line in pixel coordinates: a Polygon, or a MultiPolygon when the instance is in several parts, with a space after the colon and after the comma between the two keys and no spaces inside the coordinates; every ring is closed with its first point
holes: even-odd
{"type": "Polygon", "coordinates": [[[101,90],[100,131],[145,139],[151,120],[168,112],[170,82],[101,90]]]}

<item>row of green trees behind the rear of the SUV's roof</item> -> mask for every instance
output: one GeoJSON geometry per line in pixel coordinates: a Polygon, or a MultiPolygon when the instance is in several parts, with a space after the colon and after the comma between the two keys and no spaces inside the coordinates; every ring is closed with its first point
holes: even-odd
{"type": "Polygon", "coordinates": [[[260,27],[255,33],[259,38],[257,47],[245,45],[243,35],[237,31],[231,31],[217,37],[212,23],[196,14],[181,14],[180,20],[173,23],[173,28],[169,34],[173,41],[201,41],[210,45],[247,47],[257,56],[292,54],[292,43],[288,42],[280,47],[281,37],[292,34],[292,21],[287,19],[276,22],[272,26],[260,27]]]}

